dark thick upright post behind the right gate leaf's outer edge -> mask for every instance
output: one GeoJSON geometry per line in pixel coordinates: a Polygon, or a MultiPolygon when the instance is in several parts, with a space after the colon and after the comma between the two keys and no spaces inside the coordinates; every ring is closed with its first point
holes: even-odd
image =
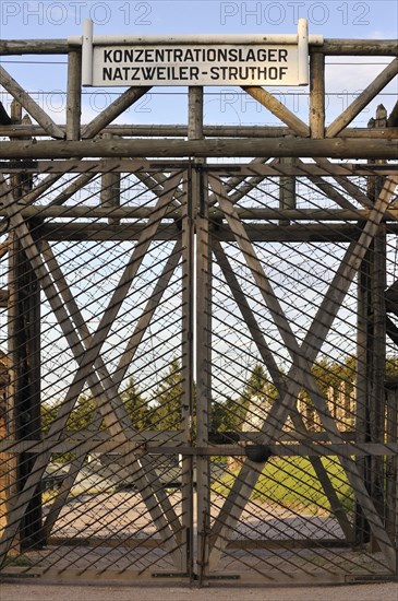
{"type": "MultiPolygon", "coordinates": [[[[386,127],[387,113],[377,107],[376,120],[369,127],[386,127]]],[[[374,162],[371,162],[374,163],[374,162]]],[[[383,187],[383,178],[371,176],[367,197],[375,202],[383,187]]],[[[385,426],[385,365],[386,365],[386,233],[379,233],[363,260],[359,278],[359,346],[357,384],[357,440],[383,443],[385,426]]],[[[359,459],[361,476],[381,517],[385,512],[385,486],[383,458],[359,459]]],[[[357,542],[363,544],[370,538],[370,528],[361,508],[357,507],[357,542]]],[[[371,535],[372,546],[376,549],[371,535]]]]}

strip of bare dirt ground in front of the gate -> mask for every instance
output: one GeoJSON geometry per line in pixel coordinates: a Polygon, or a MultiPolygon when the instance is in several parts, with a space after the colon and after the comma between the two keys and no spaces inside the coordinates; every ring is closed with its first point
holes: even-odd
{"type": "Polygon", "coordinates": [[[191,589],[0,584],[1,601],[398,601],[398,582],[336,587],[191,589]]]}

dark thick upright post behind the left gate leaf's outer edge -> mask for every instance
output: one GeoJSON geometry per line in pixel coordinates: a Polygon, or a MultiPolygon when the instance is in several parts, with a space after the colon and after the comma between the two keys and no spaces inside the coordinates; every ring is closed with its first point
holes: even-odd
{"type": "MultiPolygon", "coordinates": [[[[22,117],[22,106],[11,106],[12,120],[29,121],[22,117]]],[[[31,177],[15,174],[13,196],[23,202],[25,192],[32,189],[31,177]]],[[[37,220],[29,220],[29,228],[37,238],[37,220]]],[[[9,309],[9,435],[16,440],[40,439],[40,290],[38,280],[16,236],[10,245],[10,309],[9,309]]],[[[10,496],[20,493],[32,471],[35,455],[22,452],[16,458],[14,483],[10,483],[10,496]]],[[[20,550],[32,549],[41,542],[41,491],[37,488],[27,506],[19,533],[20,550]]],[[[15,549],[15,547],[14,547],[15,549]]]]}

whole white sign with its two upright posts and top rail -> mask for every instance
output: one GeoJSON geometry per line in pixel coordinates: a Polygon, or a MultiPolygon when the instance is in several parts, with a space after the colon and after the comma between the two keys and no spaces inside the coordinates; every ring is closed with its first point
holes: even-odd
{"type": "Polygon", "coordinates": [[[93,36],[84,22],[82,84],[95,86],[152,85],[306,85],[309,36],[305,19],[297,34],[227,34],[161,36],[93,36]]]}

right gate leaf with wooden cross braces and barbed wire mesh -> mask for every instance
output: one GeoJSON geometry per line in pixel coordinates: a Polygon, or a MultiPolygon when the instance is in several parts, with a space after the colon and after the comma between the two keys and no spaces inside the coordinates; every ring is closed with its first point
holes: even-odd
{"type": "Polygon", "coordinates": [[[209,175],[210,440],[226,457],[212,460],[201,569],[373,578],[396,569],[396,349],[383,331],[396,237],[377,227],[382,186],[366,222],[346,192],[364,178],[292,179],[230,191],[209,175]]]}

